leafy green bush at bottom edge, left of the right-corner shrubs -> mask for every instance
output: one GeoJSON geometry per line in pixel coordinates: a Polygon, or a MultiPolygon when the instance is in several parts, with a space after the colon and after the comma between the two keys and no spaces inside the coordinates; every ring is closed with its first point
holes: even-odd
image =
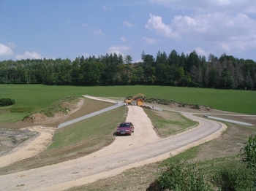
{"type": "Polygon", "coordinates": [[[205,177],[196,165],[168,160],[167,170],[157,179],[163,189],[168,190],[211,190],[205,177]]]}

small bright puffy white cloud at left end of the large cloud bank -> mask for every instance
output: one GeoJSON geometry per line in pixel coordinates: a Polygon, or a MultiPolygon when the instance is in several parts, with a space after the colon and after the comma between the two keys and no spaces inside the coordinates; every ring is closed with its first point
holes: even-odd
{"type": "Polygon", "coordinates": [[[150,14],[150,19],[148,19],[148,23],[146,23],[146,28],[151,31],[154,30],[157,34],[168,38],[176,39],[178,37],[178,34],[173,31],[171,26],[167,26],[162,22],[162,17],[152,14],[150,14]]]}

